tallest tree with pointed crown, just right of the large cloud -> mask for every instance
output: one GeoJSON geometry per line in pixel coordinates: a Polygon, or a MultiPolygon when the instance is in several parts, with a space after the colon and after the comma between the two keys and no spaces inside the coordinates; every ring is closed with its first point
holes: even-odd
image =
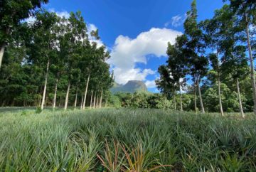
{"type": "MultiPolygon", "coordinates": [[[[197,23],[197,10],[196,0],[191,4],[191,10],[187,12],[187,18],[184,22],[185,35],[188,38],[186,43],[186,56],[188,58],[188,67],[191,71],[191,76],[194,82],[194,92],[196,95],[196,85],[198,86],[198,94],[201,104],[201,111],[204,113],[203,100],[201,96],[200,83],[201,79],[206,75],[208,70],[208,60],[203,55],[204,44],[203,33],[197,23]]],[[[195,109],[196,109],[196,96],[195,96],[195,109]]]]}

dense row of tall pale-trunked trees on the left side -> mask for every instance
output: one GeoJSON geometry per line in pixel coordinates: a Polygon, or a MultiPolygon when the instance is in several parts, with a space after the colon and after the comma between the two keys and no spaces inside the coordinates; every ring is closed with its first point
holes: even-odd
{"type": "Polygon", "coordinates": [[[31,9],[47,1],[37,1],[36,5],[32,2],[28,1],[33,5],[28,11],[17,9],[27,13],[21,17],[14,14],[15,24],[2,26],[4,17],[11,15],[7,12],[1,18],[1,105],[36,105],[41,109],[52,105],[54,109],[58,104],[67,109],[70,104],[77,107],[79,102],[82,109],[86,104],[101,107],[105,92],[112,86],[112,76],[106,63],[110,53],[96,43],[100,39],[98,31],[88,33],[80,12],[60,18],[39,9],[32,11],[35,21],[21,21],[32,13],[31,9]],[[11,33],[4,33],[4,27],[11,33]]]}

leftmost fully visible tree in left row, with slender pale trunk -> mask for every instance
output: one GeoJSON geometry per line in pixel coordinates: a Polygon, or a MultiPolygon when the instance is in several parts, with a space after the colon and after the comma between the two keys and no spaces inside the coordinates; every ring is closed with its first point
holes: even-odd
{"type": "Polygon", "coordinates": [[[41,102],[41,109],[46,100],[46,87],[48,82],[50,59],[56,55],[58,48],[58,16],[55,13],[49,13],[42,10],[36,13],[36,21],[31,25],[33,36],[31,42],[28,43],[31,48],[30,58],[34,64],[38,66],[45,66],[45,84],[43,87],[43,98],[41,102]]]}

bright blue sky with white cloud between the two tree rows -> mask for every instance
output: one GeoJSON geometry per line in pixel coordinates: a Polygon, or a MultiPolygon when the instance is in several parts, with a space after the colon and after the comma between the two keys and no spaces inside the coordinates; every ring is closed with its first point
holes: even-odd
{"type": "MultiPolygon", "coordinates": [[[[111,50],[108,61],[116,81],[143,80],[157,92],[157,68],[166,61],[167,42],[183,32],[191,1],[174,0],[50,0],[46,9],[58,14],[81,11],[90,29],[98,28],[102,43],[111,50]]],[[[198,20],[210,18],[221,0],[198,0],[198,20]]]]}

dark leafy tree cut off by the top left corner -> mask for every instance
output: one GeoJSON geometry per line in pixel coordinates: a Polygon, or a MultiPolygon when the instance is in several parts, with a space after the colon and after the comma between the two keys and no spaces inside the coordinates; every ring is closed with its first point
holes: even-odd
{"type": "Polygon", "coordinates": [[[20,21],[33,15],[33,10],[40,8],[48,0],[4,0],[0,1],[0,68],[7,43],[11,42],[11,35],[20,21]]]}

